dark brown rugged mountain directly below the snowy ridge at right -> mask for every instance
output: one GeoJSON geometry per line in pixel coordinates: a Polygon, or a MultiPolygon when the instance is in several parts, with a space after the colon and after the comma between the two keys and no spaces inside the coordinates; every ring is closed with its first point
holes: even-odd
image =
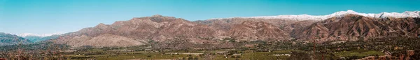
{"type": "Polygon", "coordinates": [[[364,40],[380,37],[418,37],[419,18],[372,18],[357,14],[332,17],[318,21],[302,30],[293,30],[291,35],[297,39],[364,40]]]}

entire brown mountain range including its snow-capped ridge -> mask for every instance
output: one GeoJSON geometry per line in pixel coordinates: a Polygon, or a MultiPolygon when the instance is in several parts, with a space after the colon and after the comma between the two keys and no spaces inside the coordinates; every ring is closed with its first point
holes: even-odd
{"type": "Polygon", "coordinates": [[[156,14],[151,17],[99,23],[92,28],[61,34],[48,41],[69,46],[139,46],[148,41],[188,39],[190,43],[235,41],[356,41],[381,37],[419,37],[420,11],[358,13],[353,10],[328,15],[232,17],[188,21],[156,14]]]}

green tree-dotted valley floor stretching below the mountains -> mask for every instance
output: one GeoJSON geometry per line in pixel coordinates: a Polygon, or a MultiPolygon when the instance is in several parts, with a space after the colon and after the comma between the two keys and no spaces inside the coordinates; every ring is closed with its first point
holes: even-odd
{"type": "MultiPolygon", "coordinates": [[[[367,38],[363,38],[367,39],[367,38]]],[[[221,44],[188,43],[187,39],[164,41],[149,40],[144,46],[93,48],[47,43],[1,46],[0,58],[18,59],[70,59],[70,60],[120,60],[120,59],[216,59],[216,60],[262,60],[262,59],[361,59],[379,57],[386,52],[398,59],[406,50],[416,50],[412,58],[419,57],[419,38],[367,39],[344,43],[307,43],[305,41],[235,41],[225,39],[221,44]],[[398,43],[402,42],[402,43],[398,43]],[[216,46],[216,47],[212,47],[216,46]],[[15,55],[21,54],[23,55],[15,55]],[[33,56],[33,57],[31,57],[33,56]],[[417,57],[415,57],[417,56],[417,57]]]]}

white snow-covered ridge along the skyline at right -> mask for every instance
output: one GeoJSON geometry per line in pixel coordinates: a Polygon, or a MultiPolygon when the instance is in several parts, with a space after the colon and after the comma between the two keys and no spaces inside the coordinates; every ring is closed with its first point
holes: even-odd
{"type": "MultiPolygon", "coordinates": [[[[308,15],[308,14],[299,14],[299,15],[278,15],[278,16],[262,16],[262,17],[234,17],[234,18],[255,18],[255,19],[287,19],[287,20],[324,20],[331,17],[344,17],[346,14],[358,14],[364,17],[373,17],[373,18],[386,18],[386,17],[395,17],[395,18],[406,18],[406,17],[420,17],[420,11],[405,11],[402,13],[398,12],[381,12],[379,14],[374,13],[359,13],[353,10],[339,11],[327,15],[308,15]]],[[[230,19],[230,18],[225,18],[230,19]]]]}

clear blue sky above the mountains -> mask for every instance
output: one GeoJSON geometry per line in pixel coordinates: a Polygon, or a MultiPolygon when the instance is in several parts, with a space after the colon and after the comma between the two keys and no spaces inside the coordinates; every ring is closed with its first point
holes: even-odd
{"type": "Polygon", "coordinates": [[[337,11],[420,10],[420,0],[0,0],[0,32],[74,32],[99,23],[162,14],[190,21],[337,11]]]}

